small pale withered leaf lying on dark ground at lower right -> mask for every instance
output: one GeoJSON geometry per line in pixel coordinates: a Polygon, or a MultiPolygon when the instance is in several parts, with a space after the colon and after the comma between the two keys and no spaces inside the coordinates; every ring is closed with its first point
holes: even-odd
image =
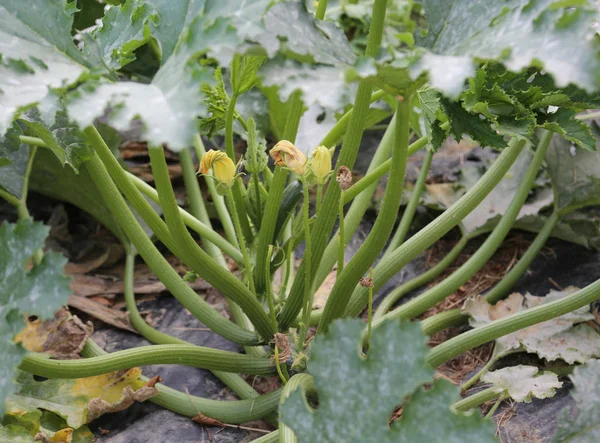
{"type": "Polygon", "coordinates": [[[550,398],[562,387],[558,376],[535,366],[518,365],[487,372],[481,381],[491,383],[499,393],[506,392],[516,402],[530,403],[533,398],[550,398]]]}

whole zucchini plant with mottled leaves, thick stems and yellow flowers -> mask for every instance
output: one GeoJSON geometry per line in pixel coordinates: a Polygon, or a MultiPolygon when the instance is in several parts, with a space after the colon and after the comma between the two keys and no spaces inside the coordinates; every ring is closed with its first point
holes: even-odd
{"type": "MultiPolygon", "coordinates": [[[[582,113],[600,107],[596,3],[126,0],[103,10],[89,3],[0,0],[0,196],[19,217],[0,228],[0,413],[10,416],[2,405],[21,389],[17,379],[30,378],[24,373],[78,379],[137,365],[184,364],[213,371],[240,400],[197,398],[154,387],[154,381],[150,401],[227,423],[274,419],[279,429],[260,441],[464,441],[464,428],[473,441],[493,440],[489,420],[464,412],[506,398],[504,389],[530,398],[526,386],[506,387],[515,378],[511,372],[491,397],[457,403],[457,388],[431,385],[434,368],[585,308],[600,297],[600,281],[478,324],[431,350],[421,330],[430,334],[468,316],[456,309],[409,320],[468,281],[512,228],[537,232],[486,295],[488,303],[498,302],[550,236],[565,238],[569,220],[600,203],[597,139],[586,121],[595,114],[582,113]],[[89,27],[82,29],[84,23],[89,27]],[[129,173],[112,146],[111,131],[126,130],[133,120],[148,143],[155,187],[129,173]],[[367,174],[353,182],[363,134],[381,122],[386,131],[367,174]],[[299,131],[302,125],[318,128],[319,138],[299,131]],[[222,146],[207,150],[206,138],[220,135],[215,140],[222,146]],[[433,154],[449,136],[499,154],[409,236],[433,154]],[[246,148],[240,153],[235,142],[241,139],[246,148]],[[165,148],[179,156],[187,210],[173,191],[165,148]],[[396,226],[407,160],[420,150],[420,175],[396,226]],[[69,295],[65,260],[44,253],[48,229],[32,221],[27,208],[30,184],[54,192],[32,167],[42,155],[48,161],[53,155],[73,182],[84,183],[90,197],[70,201],[99,217],[125,245],[127,310],[153,346],[107,354],[87,339],[85,358],[59,361],[15,344],[26,316],[50,318],[69,295]],[[574,181],[567,168],[577,170],[574,181]],[[546,173],[553,193],[535,206],[530,200],[546,173]],[[514,174],[518,181],[507,187],[514,174]],[[344,251],[385,175],[375,223],[346,261],[344,251]],[[212,227],[200,181],[222,231],[212,227]],[[481,221],[474,214],[493,198],[505,204],[481,221]],[[538,212],[536,222],[527,219],[538,212]],[[373,312],[374,295],[455,228],[462,239],[452,252],[373,312]],[[464,265],[395,307],[480,236],[486,240],[464,265]],[[204,279],[227,299],[231,320],[198,297],[154,238],[190,269],[187,277],[204,279]],[[192,315],[244,353],[196,346],[147,324],[131,283],[137,256],[192,315]],[[336,265],[324,308],[313,309],[316,289],[336,265]],[[368,325],[348,319],[365,309],[368,325]],[[260,396],[238,374],[276,374],[281,388],[260,396]],[[402,418],[389,425],[400,406],[402,418]],[[435,417],[431,428],[423,429],[420,414],[435,417]]],[[[532,379],[537,373],[526,371],[532,379]]],[[[560,385],[552,380],[545,396],[560,385]]],[[[17,438],[21,431],[7,423],[0,435],[17,438]]]]}

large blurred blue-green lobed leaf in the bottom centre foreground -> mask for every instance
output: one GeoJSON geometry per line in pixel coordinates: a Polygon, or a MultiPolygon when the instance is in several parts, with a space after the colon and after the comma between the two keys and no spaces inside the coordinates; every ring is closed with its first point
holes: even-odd
{"type": "Polygon", "coordinates": [[[491,422],[451,411],[450,404],[459,398],[456,387],[438,380],[432,388],[422,388],[432,381],[433,370],[425,362],[425,336],[417,324],[383,324],[373,331],[366,358],[358,345],[363,329],[359,320],[337,321],[315,341],[309,372],[315,377],[319,408],[311,412],[299,391],[280,408],[281,420],[300,443],[496,441],[491,422]],[[402,418],[388,426],[390,414],[403,401],[402,418]]]}

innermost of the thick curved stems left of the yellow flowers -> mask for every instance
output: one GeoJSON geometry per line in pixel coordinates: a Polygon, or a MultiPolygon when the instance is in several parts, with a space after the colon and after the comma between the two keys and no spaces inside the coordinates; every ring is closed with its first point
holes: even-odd
{"type": "Polygon", "coordinates": [[[189,261],[188,264],[194,272],[198,273],[225,297],[240,305],[258,333],[264,339],[270,340],[275,331],[272,329],[269,317],[254,294],[228,270],[222,268],[206,254],[196,244],[185,227],[179,215],[179,207],[173,193],[164,151],[162,148],[150,148],[148,154],[167,226],[177,247],[185,252],[189,261]]]}

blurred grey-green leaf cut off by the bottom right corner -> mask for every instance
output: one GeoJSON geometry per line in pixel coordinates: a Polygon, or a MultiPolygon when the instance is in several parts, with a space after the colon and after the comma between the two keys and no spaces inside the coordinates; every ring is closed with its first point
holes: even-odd
{"type": "Polygon", "coordinates": [[[578,366],[570,376],[573,382],[571,396],[577,406],[563,409],[558,417],[558,429],[553,442],[574,443],[600,440],[600,360],[578,366]]]}

